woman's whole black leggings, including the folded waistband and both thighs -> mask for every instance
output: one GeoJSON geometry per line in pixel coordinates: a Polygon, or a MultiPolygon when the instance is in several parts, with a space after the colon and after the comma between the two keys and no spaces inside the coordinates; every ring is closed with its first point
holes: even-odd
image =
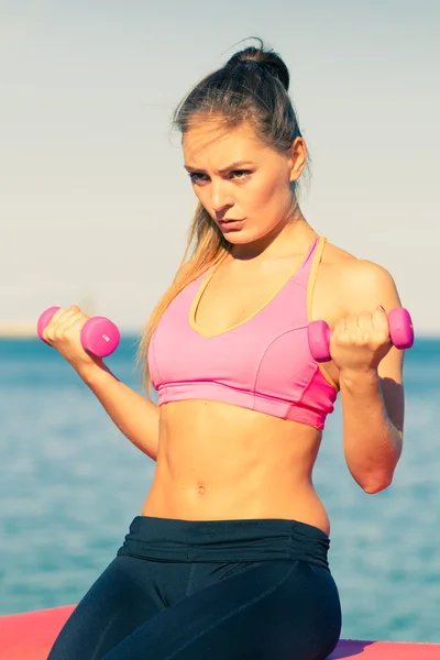
{"type": "Polygon", "coordinates": [[[48,660],[323,660],[341,609],[320,529],[138,516],[48,660]]]}

